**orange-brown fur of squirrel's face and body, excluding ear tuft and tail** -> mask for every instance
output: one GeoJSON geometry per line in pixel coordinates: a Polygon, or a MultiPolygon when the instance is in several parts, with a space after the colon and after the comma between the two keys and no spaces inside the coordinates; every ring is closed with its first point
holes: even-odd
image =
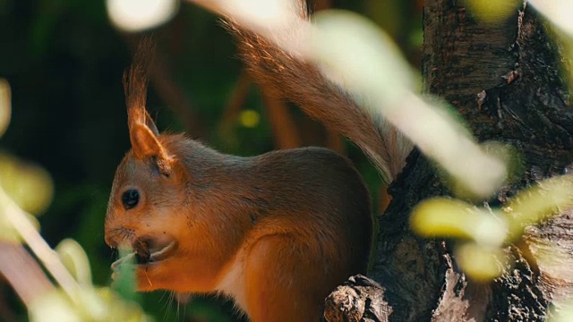
{"type": "Polygon", "coordinates": [[[167,258],[137,266],[139,290],[222,292],[254,322],[317,320],[329,292],[365,273],[371,202],[345,157],[325,148],[233,157],[181,135],[158,142],[172,173],[128,153],[107,210],[112,247],[175,241],[167,258]],[[141,200],[126,210],[127,189],[141,200]]]}

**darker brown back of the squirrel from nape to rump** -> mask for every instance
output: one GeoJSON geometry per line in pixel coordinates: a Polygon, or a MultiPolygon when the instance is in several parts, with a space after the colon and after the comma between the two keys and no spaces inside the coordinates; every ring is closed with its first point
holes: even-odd
{"type": "Polygon", "coordinates": [[[248,216],[254,231],[272,226],[283,233],[304,234],[309,242],[319,239],[323,248],[347,249],[350,270],[365,273],[372,243],[372,201],[348,158],[317,147],[236,157],[183,136],[166,137],[176,138],[164,140],[165,146],[188,165],[192,179],[186,193],[195,207],[217,204],[226,209],[225,216],[248,216]],[[277,227],[278,218],[290,224],[277,227]]]}

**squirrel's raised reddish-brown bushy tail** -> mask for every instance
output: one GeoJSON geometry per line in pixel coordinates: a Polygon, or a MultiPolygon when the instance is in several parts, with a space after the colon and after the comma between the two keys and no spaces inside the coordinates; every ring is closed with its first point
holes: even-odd
{"type": "MultiPolygon", "coordinates": [[[[299,3],[301,16],[308,20],[304,0],[299,3]]],[[[412,145],[393,126],[381,115],[357,106],[318,66],[296,59],[267,39],[231,22],[227,26],[239,39],[240,55],[254,80],[270,85],[274,95],[292,101],[304,113],[353,140],[377,166],[385,182],[394,180],[404,167],[412,145]]]]}

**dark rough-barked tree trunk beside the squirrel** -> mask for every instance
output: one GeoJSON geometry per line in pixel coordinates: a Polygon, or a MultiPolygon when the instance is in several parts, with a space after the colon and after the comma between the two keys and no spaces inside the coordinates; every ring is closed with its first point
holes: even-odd
{"type": "MultiPolygon", "coordinates": [[[[569,88],[560,76],[560,47],[531,5],[498,25],[476,21],[461,0],[427,0],[423,16],[425,90],[455,106],[478,140],[510,144],[521,155],[525,171],[488,205],[499,207],[532,183],[570,172],[573,115],[569,88]]],[[[358,291],[363,299],[370,296],[363,302],[378,298],[385,313],[354,313],[347,320],[536,321],[548,317],[555,301],[573,297],[571,209],[526,229],[522,242],[506,249],[512,266],[483,284],[458,269],[451,253],[454,241],[423,239],[410,229],[416,204],[449,195],[422,155],[412,153],[390,193],[393,200],[379,218],[371,274],[382,286],[358,291]],[[535,255],[547,250],[566,255],[551,267],[536,262],[535,255]]],[[[352,294],[342,296],[345,301],[337,297],[327,301],[325,317],[334,317],[333,308],[351,312],[350,307],[364,306],[350,303],[352,294]]]]}

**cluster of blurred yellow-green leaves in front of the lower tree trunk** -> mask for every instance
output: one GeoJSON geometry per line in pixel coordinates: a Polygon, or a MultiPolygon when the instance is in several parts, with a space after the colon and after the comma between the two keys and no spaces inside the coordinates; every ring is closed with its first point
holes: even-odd
{"type": "MultiPolygon", "coordinates": [[[[472,278],[491,280],[508,266],[508,258],[501,249],[504,242],[521,238],[527,225],[539,224],[570,207],[573,207],[573,174],[553,177],[519,191],[504,205],[503,214],[458,199],[427,199],[413,210],[411,225],[423,236],[475,241],[458,244],[455,250],[458,264],[472,278]]],[[[532,250],[545,270],[559,268],[552,265],[552,259],[560,253],[550,250],[535,247],[532,250]]]]}

